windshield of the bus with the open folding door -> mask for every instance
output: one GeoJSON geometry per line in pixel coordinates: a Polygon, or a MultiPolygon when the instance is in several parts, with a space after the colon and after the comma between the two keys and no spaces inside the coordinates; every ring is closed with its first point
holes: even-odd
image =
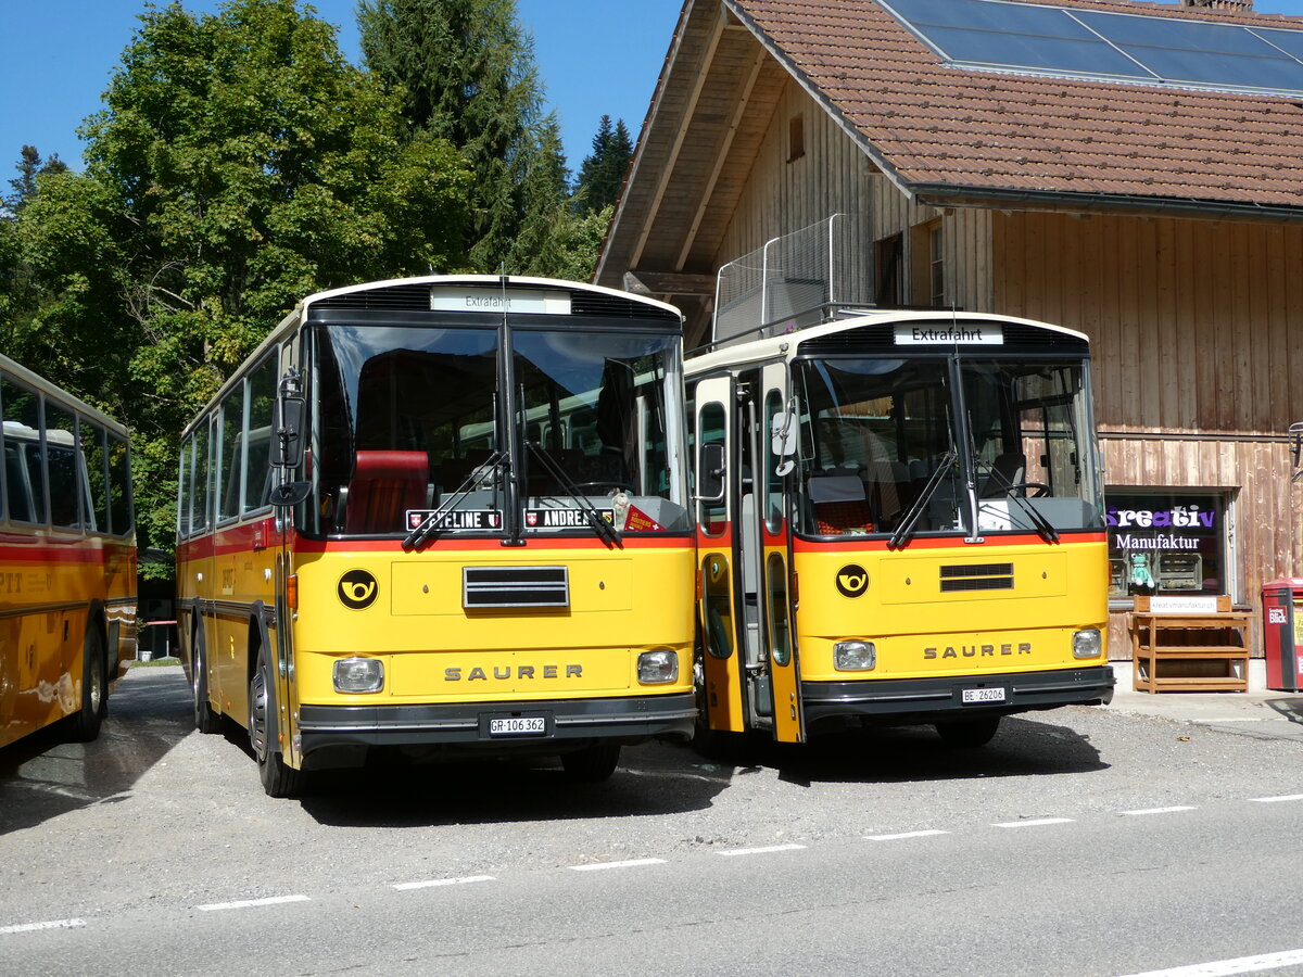
{"type": "Polygon", "coordinates": [[[848,357],[794,370],[799,531],[902,542],[1102,528],[1083,361],[848,357]]]}

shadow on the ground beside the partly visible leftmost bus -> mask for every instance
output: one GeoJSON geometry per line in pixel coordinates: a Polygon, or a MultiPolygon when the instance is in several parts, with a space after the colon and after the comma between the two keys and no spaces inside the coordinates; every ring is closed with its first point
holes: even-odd
{"type": "Polygon", "coordinates": [[[65,723],[0,749],[0,835],[121,800],[194,726],[185,676],[168,667],[128,672],[94,743],[69,743],[65,723]]]}

